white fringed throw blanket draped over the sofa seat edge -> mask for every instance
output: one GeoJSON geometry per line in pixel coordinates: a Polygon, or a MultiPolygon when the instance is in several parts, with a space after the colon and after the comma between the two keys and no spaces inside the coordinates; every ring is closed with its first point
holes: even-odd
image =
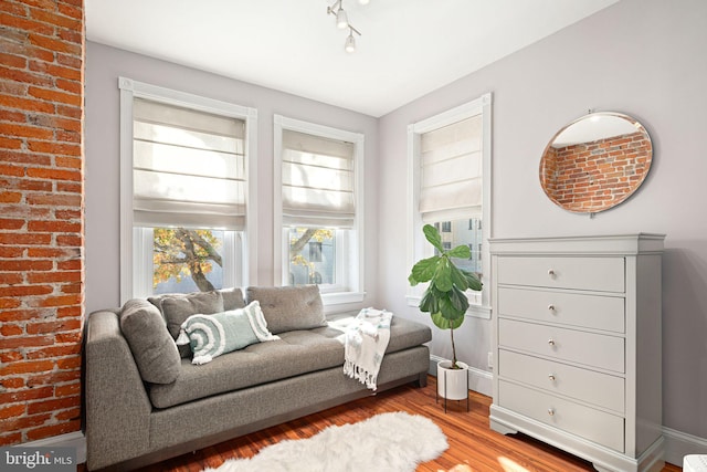
{"type": "Polygon", "coordinates": [[[347,327],[344,342],[344,374],[376,390],[378,370],[390,340],[390,321],[387,311],[363,308],[347,327]]]}

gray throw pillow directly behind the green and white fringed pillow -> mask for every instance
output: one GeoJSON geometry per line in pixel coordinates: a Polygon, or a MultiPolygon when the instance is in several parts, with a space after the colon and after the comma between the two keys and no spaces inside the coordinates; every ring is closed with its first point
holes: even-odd
{"type": "MultiPolygon", "coordinates": [[[[162,314],[167,322],[167,329],[177,339],[181,324],[191,315],[212,315],[214,313],[224,312],[223,295],[221,292],[196,292],[188,295],[178,295],[173,297],[163,297],[161,300],[162,314]]],[[[179,346],[181,357],[190,357],[191,350],[189,346],[179,346]]]]}

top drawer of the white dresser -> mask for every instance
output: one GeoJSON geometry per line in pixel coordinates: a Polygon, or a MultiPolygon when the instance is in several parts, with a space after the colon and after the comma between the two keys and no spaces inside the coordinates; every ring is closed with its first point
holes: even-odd
{"type": "Polygon", "coordinates": [[[498,258],[499,284],[624,292],[623,258],[498,258]]]}

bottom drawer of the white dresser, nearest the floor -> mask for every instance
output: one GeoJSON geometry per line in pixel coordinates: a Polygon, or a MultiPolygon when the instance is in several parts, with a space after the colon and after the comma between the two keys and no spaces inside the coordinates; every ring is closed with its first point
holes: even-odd
{"type": "Polygon", "coordinates": [[[498,381],[498,405],[614,451],[624,451],[623,417],[503,380],[498,381]]]}

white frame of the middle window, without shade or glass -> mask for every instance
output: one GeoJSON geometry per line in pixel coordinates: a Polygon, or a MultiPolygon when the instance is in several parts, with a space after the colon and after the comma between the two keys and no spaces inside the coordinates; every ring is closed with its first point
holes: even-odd
{"type": "Polygon", "coordinates": [[[365,135],[330,126],[318,125],[300,119],[288,118],[275,114],[273,117],[273,283],[286,285],[289,276],[287,260],[289,258],[288,229],[283,225],[283,198],[282,198],[282,151],[283,130],[293,130],[329,139],[339,139],[355,145],[354,153],[354,189],[356,192],[354,229],[336,230],[336,271],[337,280],[346,276],[348,290],[323,291],[321,301],[326,306],[359,303],[365,298],[363,274],[363,156],[365,135]],[[279,254],[279,256],[277,256],[279,254]],[[352,261],[355,263],[352,263],[352,261]],[[345,268],[348,273],[345,274],[345,268]]]}

